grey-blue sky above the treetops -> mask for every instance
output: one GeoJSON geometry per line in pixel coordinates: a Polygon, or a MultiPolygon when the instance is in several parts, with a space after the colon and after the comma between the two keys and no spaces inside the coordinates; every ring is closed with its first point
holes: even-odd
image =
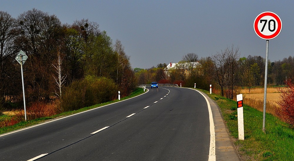
{"type": "Polygon", "coordinates": [[[283,28],[269,40],[269,60],[282,60],[294,53],[294,1],[62,1],[9,0],[0,10],[12,17],[32,8],[56,15],[61,23],[89,19],[99,24],[115,43],[121,40],[133,68],[151,68],[178,62],[194,52],[208,57],[227,46],[239,47],[241,57],[265,58],[266,40],[253,30],[258,14],[271,11],[283,28]]]}

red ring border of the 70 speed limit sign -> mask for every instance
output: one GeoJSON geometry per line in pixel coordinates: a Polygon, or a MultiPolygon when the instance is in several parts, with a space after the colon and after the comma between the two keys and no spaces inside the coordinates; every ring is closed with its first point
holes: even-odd
{"type": "Polygon", "coordinates": [[[280,17],[273,13],[273,12],[263,12],[263,13],[260,13],[254,20],[254,24],[253,24],[253,28],[254,28],[254,31],[255,33],[262,39],[265,39],[265,40],[270,40],[270,39],[273,39],[275,37],[277,37],[281,30],[282,30],[282,21],[280,19],[280,17]],[[272,34],[272,35],[264,35],[262,34],[259,30],[258,30],[258,23],[260,21],[261,18],[263,18],[264,16],[272,16],[273,18],[276,19],[277,23],[278,23],[278,28],[277,30],[275,30],[275,32],[272,34]]]}

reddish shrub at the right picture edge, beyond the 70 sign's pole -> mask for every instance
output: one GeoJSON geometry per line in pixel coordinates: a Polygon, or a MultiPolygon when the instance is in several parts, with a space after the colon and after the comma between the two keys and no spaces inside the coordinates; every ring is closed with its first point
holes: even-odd
{"type": "Polygon", "coordinates": [[[294,85],[291,79],[285,81],[286,88],[280,88],[280,99],[277,102],[280,108],[275,108],[275,113],[280,119],[288,123],[292,128],[294,126],[294,85]]]}

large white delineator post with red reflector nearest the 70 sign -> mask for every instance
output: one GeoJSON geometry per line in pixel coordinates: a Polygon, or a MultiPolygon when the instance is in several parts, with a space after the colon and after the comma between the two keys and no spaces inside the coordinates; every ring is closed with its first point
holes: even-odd
{"type": "Polygon", "coordinates": [[[239,140],[244,140],[243,95],[237,95],[238,134],[239,140]]]}

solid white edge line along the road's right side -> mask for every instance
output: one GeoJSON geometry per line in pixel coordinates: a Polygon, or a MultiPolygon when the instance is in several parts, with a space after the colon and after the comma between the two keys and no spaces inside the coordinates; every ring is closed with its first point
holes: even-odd
{"type": "MultiPolygon", "coordinates": [[[[196,89],[193,89],[193,90],[196,90],[196,89]]],[[[210,124],[210,146],[209,146],[208,161],[216,161],[216,133],[214,131],[214,123],[213,123],[211,107],[206,96],[204,96],[200,91],[198,92],[205,98],[207,106],[208,106],[209,124],[210,124]]]]}

